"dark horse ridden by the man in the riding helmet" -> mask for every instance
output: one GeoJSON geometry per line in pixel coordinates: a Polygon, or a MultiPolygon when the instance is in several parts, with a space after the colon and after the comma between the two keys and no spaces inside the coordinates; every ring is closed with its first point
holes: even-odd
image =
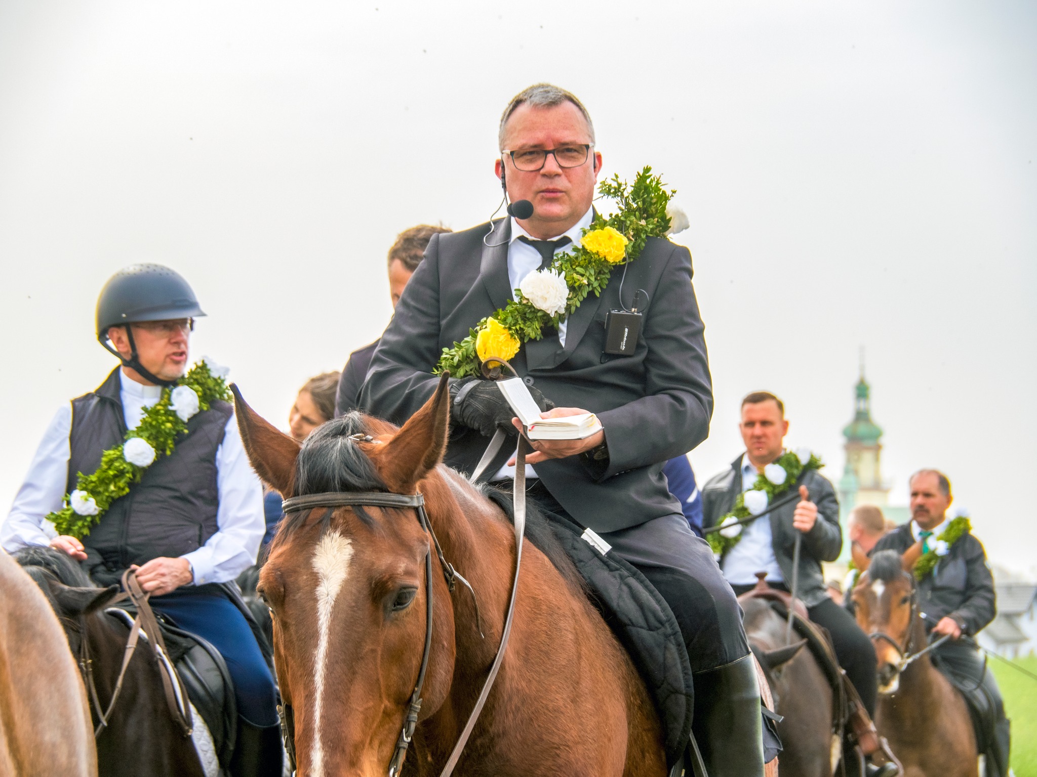
{"type": "MultiPolygon", "coordinates": [[[[74,656],[82,655],[87,640],[99,701],[107,710],[130,633],[122,618],[104,610],[118,586],[97,588],[79,565],[50,548],[26,548],[16,558],[50,599],[74,656]]],[[[204,777],[193,740],[169,714],[160,671],[155,654],[138,646],[108,725],[96,738],[97,769],[105,777],[204,777]]],[[[91,717],[96,726],[92,706],[91,717]]]]}

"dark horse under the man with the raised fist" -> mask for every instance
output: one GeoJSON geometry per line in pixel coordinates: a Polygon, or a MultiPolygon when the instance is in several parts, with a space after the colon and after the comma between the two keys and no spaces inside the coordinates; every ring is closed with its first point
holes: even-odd
{"type": "Polygon", "coordinates": [[[774,696],[783,750],[778,755],[782,777],[831,777],[839,758],[838,738],[833,742],[832,686],[806,640],[785,643],[785,618],[770,603],[739,597],[745,612],[746,636],[763,667],[774,696]]]}

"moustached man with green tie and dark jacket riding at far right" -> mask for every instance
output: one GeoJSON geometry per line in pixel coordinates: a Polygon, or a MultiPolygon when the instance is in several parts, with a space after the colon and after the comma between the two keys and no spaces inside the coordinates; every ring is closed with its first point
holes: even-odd
{"type": "MultiPolygon", "coordinates": [[[[977,650],[975,637],[997,614],[993,576],[986,566],[986,551],[972,531],[953,544],[940,545],[947,528],[947,510],[954,496],[951,482],[938,469],[920,469],[910,481],[912,519],[875,543],[874,552],[893,549],[903,553],[916,543],[922,551],[935,550],[936,566],[918,583],[919,609],[924,612],[926,631],[933,638],[949,636],[933,650],[936,667],[969,697],[977,692],[989,699],[993,714],[985,722],[987,774],[1008,774],[1011,745],[1009,721],[1001,689],[986,659],[977,650]],[[990,730],[992,728],[992,730],[990,730]]],[[[982,746],[982,745],[981,745],[982,746]]]]}

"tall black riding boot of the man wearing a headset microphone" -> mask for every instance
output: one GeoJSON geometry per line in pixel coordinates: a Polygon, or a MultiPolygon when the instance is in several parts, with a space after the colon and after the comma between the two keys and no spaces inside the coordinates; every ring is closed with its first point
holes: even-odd
{"type": "Polygon", "coordinates": [[[760,688],[752,654],[696,672],[692,732],[709,777],[762,777],[760,688]]]}

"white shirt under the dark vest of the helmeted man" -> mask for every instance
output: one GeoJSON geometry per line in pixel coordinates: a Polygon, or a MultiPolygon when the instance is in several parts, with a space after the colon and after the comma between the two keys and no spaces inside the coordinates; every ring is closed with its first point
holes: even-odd
{"type": "MultiPolygon", "coordinates": [[[[120,399],[127,428],[134,429],[162,394],[157,385],[143,385],[121,378],[120,399]]],[[[15,496],[7,519],[0,525],[0,545],[15,552],[26,545],[48,545],[56,537],[54,525],[44,516],[60,510],[64,503],[72,447],[72,404],[54,414],[44,439],[36,449],[25,482],[15,496]]],[[[259,543],[265,531],[262,512],[262,486],[252,470],[237,423],[231,415],[224,429],[223,442],[216,452],[218,530],[197,550],[186,553],[197,585],[233,580],[255,564],[259,543]]]]}

